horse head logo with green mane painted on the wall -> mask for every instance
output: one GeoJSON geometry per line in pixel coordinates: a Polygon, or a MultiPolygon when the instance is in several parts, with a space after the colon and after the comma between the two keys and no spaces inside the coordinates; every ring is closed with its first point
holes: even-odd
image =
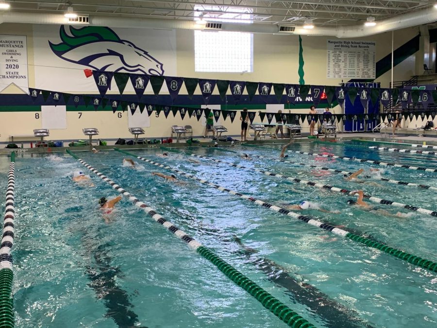
{"type": "Polygon", "coordinates": [[[63,60],[95,70],[164,75],[163,63],[108,27],[68,26],[68,30],[69,34],[61,26],[61,43],[49,41],[51,51],[63,60]]]}

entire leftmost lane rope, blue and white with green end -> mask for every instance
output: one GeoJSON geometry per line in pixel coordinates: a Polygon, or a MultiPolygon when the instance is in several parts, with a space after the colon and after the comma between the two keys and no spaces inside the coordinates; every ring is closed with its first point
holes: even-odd
{"type": "Polygon", "coordinates": [[[14,302],[11,297],[12,271],[11,249],[14,244],[15,219],[15,152],[11,153],[8,171],[8,187],[6,189],[5,213],[3,220],[3,237],[0,246],[0,327],[13,328],[14,302]]]}

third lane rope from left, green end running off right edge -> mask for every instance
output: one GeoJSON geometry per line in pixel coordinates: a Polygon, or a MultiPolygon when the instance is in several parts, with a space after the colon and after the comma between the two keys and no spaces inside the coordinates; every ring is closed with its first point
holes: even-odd
{"type": "Polygon", "coordinates": [[[122,153],[122,154],[133,156],[133,157],[138,158],[138,159],[140,159],[140,160],[142,160],[142,161],[144,161],[146,163],[150,163],[150,164],[152,164],[154,166],[157,166],[157,167],[160,167],[160,168],[163,168],[163,169],[167,169],[167,170],[172,171],[174,173],[177,173],[179,175],[183,175],[183,176],[185,176],[187,178],[196,180],[196,181],[198,181],[198,182],[200,182],[200,183],[202,183],[204,185],[210,186],[210,187],[215,188],[217,190],[227,192],[227,193],[229,193],[231,195],[237,196],[237,197],[242,198],[242,199],[247,199],[247,200],[249,200],[249,201],[251,201],[251,202],[253,202],[253,203],[255,203],[255,204],[259,205],[259,206],[262,206],[262,207],[265,207],[265,208],[269,208],[272,211],[275,211],[275,212],[287,215],[287,216],[295,218],[295,219],[302,220],[303,222],[305,222],[307,224],[311,224],[311,225],[317,226],[317,227],[319,227],[321,229],[324,229],[324,230],[327,230],[327,231],[331,231],[332,233],[334,233],[336,235],[347,237],[347,238],[353,240],[354,242],[359,242],[359,243],[364,244],[364,245],[366,245],[368,247],[379,249],[379,250],[381,250],[381,251],[383,251],[383,252],[385,252],[385,253],[387,253],[387,254],[389,254],[391,256],[394,256],[394,257],[396,257],[398,259],[403,259],[403,260],[405,260],[405,261],[407,261],[407,262],[409,262],[409,263],[411,263],[413,265],[417,265],[417,266],[419,266],[421,268],[430,270],[432,272],[437,272],[437,262],[433,262],[433,261],[428,260],[428,259],[422,259],[420,257],[417,257],[417,256],[414,256],[412,254],[406,253],[406,252],[401,251],[399,249],[396,249],[396,248],[393,248],[393,247],[389,247],[386,244],[383,244],[383,243],[380,243],[380,242],[376,242],[376,241],[371,240],[371,239],[369,239],[367,237],[362,237],[362,236],[353,234],[351,232],[348,232],[346,230],[343,230],[343,229],[340,229],[340,228],[336,228],[335,226],[333,226],[331,224],[320,222],[317,218],[315,218],[313,216],[310,216],[310,215],[301,215],[301,214],[292,212],[292,211],[290,211],[288,209],[285,209],[283,207],[280,207],[280,206],[277,206],[277,205],[273,205],[273,204],[270,204],[270,203],[267,203],[267,202],[263,202],[262,200],[253,198],[251,196],[242,194],[240,192],[237,192],[237,191],[234,191],[234,190],[230,190],[230,189],[221,187],[219,185],[215,185],[212,182],[208,182],[206,180],[202,180],[202,179],[196,177],[193,174],[185,173],[185,172],[180,171],[178,169],[175,169],[175,168],[173,168],[171,166],[154,162],[154,161],[152,161],[150,159],[147,159],[147,158],[144,158],[144,157],[141,157],[141,156],[137,156],[135,154],[126,152],[126,151],[118,149],[118,148],[114,148],[114,149],[116,151],[122,153]]]}

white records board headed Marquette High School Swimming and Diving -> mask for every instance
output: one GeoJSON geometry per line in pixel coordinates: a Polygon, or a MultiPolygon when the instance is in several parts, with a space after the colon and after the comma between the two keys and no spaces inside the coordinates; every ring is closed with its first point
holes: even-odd
{"type": "Polygon", "coordinates": [[[327,40],[328,79],[375,79],[376,42],[327,40]]]}

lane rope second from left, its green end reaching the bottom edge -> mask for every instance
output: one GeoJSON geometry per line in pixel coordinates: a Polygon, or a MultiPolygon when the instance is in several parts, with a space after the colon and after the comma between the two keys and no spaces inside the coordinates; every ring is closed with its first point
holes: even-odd
{"type": "MultiPolygon", "coordinates": [[[[233,266],[225,262],[223,259],[218,257],[210,249],[203,246],[200,242],[196,241],[194,238],[187,235],[183,230],[179,229],[176,225],[167,221],[162,215],[158,214],[152,207],[139,201],[133,194],[129,193],[114,181],[100,173],[98,170],[93,168],[91,165],[87,164],[83,159],[71,153],[70,150],[66,150],[67,153],[77,159],[82,165],[84,165],[88,170],[95,173],[103,181],[111,185],[111,187],[117,190],[122,195],[129,198],[129,200],[134,203],[136,207],[144,210],[149,216],[151,216],[157,223],[166,227],[171,233],[177,236],[179,239],[188,244],[192,249],[196,250],[203,258],[209,260],[214,264],[222,273],[229,277],[238,286],[243,288],[245,291],[250,293],[256,300],[258,300],[266,309],[271,311],[279,319],[284,321],[289,327],[293,328],[315,328],[307,320],[297,314],[295,311],[288,308],[284,303],[279,301],[277,298],[267,293],[264,289],[254,283],[251,279],[244,276],[233,266]]],[[[127,152],[126,152],[127,153],[127,152]]]]}

